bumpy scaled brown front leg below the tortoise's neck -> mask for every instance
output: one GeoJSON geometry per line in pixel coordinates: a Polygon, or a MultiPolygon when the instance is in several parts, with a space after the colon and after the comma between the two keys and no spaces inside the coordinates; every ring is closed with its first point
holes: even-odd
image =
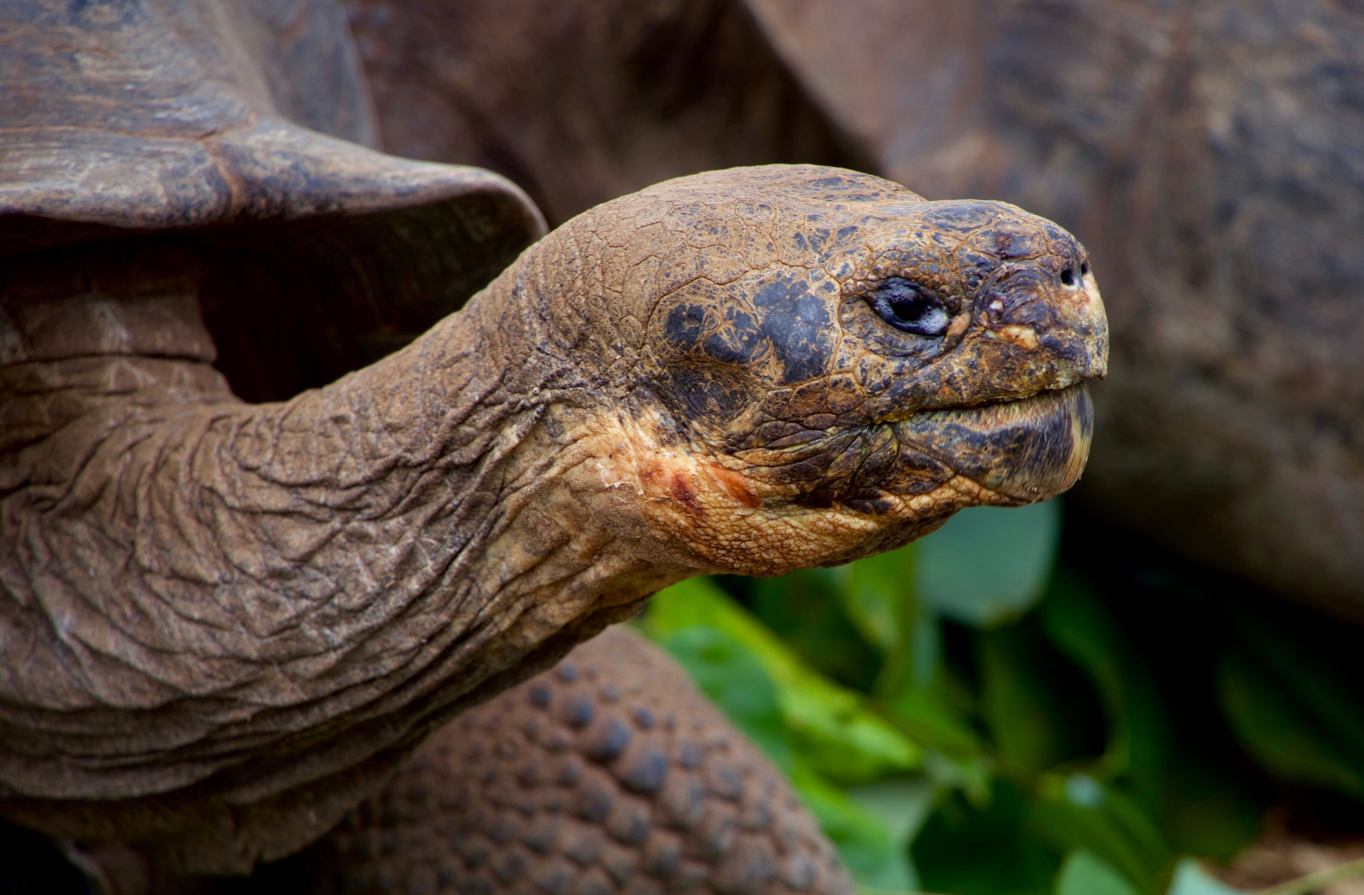
{"type": "Polygon", "coordinates": [[[252,884],[303,868],[351,894],[853,891],[777,769],[626,628],[462,714],[252,884]]]}

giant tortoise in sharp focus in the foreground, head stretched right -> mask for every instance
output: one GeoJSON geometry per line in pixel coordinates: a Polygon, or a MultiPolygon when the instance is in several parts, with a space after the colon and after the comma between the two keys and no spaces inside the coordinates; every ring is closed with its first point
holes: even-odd
{"type": "MultiPolygon", "coordinates": [[[[1084,465],[1103,307],[1084,248],[1022,209],[773,165],[542,237],[496,175],[299,123],[374,136],[334,7],[0,15],[0,816],[115,888],[297,851],[674,581],[847,562],[1084,465]]],[[[675,679],[596,674],[529,685],[558,714],[521,733],[683,827],[690,790],[640,794],[704,767],[726,797],[728,763],[768,828],[784,784],[683,735],[715,719],[649,701],[675,679]]],[[[456,779],[479,735],[405,774],[456,779]]],[[[686,857],[712,885],[837,888],[788,820],[772,842],[824,869],[754,877],[702,834],[686,857]]],[[[660,873],[696,884],[677,854],[660,873]]],[[[555,879],[614,891],[597,858],[555,879]]]]}

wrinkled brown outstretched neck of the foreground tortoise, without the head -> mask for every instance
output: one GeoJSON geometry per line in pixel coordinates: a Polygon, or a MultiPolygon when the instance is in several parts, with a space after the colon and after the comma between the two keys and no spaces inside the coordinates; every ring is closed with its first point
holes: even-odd
{"type": "MultiPolygon", "coordinates": [[[[434,723],[694,573],[600,512],[600,420],[625,408],[604,366],[566,360],[550,277],[574,285],[532,250],[408,348],[282,404],[237,401],[211,345],[149,357],[97,334],[57,360],[38,336],[60,303],[11,319],[0,812],[76,839],[175,831],[198,836],[180,869],[250,869],[321,835],[434,723]],[[310,787],[301,820],[252,839],[251,806],[310,787]]],[[[195,330],[192,303],[169,304],[162,332],[195,330]]]]}

